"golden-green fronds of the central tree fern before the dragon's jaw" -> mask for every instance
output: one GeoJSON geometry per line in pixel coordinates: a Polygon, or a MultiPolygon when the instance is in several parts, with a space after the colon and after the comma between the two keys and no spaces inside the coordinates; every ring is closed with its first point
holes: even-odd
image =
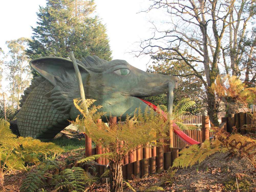
{"type": "MultiPolygon", "coordinates": [[[[166,134],[169,131],[169,122],[164,121],[162,114],[156,113],[150,107],[146,107],[143,112],[139,107],[135,110],[133,116],[127,115],[124,122],[109,127],[104,123],[97,123],[97,119],[105,113],[98,112],[102,106],[92,106],[94,101],[89,99],[82,102],[75,99],[74,105],[83,117],[79,118],[78,116],[76,121],[71,121],[71,123],[84,131],[95,144],[105,148],[106,153],[83,158],[78,161],[79,163],[92,161],[95,158],[104,156],[109,159],[110,166],[113,163],[120,165],[122,164],[122,159],[137,146],[141,148],[146,148],[148,145],[161,146],[164,143],[154,141],[169,138],[166,134]],[[123,144],[120,144],[121,142],[123,144]]],[[[190,99],[180,101],[174,108],[172,120],[179,125],[183,125],[183,120],[179,116],[188,113],[185,110],[194,104],[195,102],[190,99]]],[[[186,125],[183,125],[183,127],[184,129],[188,128],[186,125]]],[[[110,177],[113,176],[110,175],[110,177]]],[[[118,185],[122,185],[122,183],[118,185]]],[[[110,188],[113,186],[111,183],[110,188]]]]}

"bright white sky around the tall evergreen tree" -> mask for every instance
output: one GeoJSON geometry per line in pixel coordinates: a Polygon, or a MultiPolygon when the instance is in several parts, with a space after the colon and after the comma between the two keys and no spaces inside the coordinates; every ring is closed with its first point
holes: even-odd
{"type": "MultiPolygon", "coordinates": [[[[45,0],[8,0],[0,1],[0,47],[8,52],[5,41],[19,37],[31,37],[30,26],[35,27],[37,21],[36,12],[39,5],[45,6],[45,0]]],[[[163,13],[157,11],[151,14],[138,13],[148,7],[149,1],[145,0],[95,0],[97,14],[106,25],[110,40],[113,59],[123,59],[131,65],[146,69],[150,61],[149,56],[136,58],[126,53],[138,48],[136,41],[146,39],[152,35],[149,20],[161,20],[163,13]]],[[[5,77],[2,81],[3,90],[7,85],[5,77]]]]}

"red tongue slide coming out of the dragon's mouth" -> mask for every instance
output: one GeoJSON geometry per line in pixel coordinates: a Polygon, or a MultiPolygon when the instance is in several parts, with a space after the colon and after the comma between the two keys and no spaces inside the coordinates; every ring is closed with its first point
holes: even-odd
{"type": "MultiPolygon", "coordinates": [[[[155,111],[157,110],[157,106],[154,105],[153,103],[150,103],[148,101],[145,101],[143,99],[140,99],[142,100],[144,103],[146,103],[148,106],[152,107],[155,111]]],[[[164,117],[164,120],[166,121],[167,120],[167,114],[160,109],[160,112],[162,113],[163,117],[164,117]]],[[[187,136],[183,131],[181,131],[178,127],[178,125],[176,125],[176,123],[173,123],[173,131],[174,133],[182,140],[184,141],[186,144],[188,145],[194,145],[194,144],[199,144],[198,141],[192,139],[191,137],[187,136]]]]}

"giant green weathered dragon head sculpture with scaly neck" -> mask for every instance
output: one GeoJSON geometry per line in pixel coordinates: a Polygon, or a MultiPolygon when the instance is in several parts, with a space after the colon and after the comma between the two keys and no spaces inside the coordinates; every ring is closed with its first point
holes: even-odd
{"type": "MultiPolygon", "coordinates": [[[[168,91],[168,83],[177,87],[177,77],[147,73],[124,60],[105,61],[89,56],[78,61],[86,99],[96,99],[102,111],[112,116],[132,115],[146,108],[137,97],[168,91]]],[[[34,78],[20,100],[17,127],[21,136],[53,138],[75,120],[79,111],[73,99],[80,98],[78,80],[71,60],[41,57],[29,62],[40,77],[34,78]]],[[[103,119],[104,120],[104,119],[103,119]]]]}

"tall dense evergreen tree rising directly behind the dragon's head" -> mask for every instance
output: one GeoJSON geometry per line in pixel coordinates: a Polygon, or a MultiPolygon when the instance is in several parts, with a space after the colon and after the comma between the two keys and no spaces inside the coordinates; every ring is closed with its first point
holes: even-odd
{"type": "Polygon", "coordinates": [[[30,59],[57,56],[77,59],[88,55],[111,60],[106,28],[95,15],[94,1],[47,0],[37,13],[37,27],[26,50],[30,59]]]}

